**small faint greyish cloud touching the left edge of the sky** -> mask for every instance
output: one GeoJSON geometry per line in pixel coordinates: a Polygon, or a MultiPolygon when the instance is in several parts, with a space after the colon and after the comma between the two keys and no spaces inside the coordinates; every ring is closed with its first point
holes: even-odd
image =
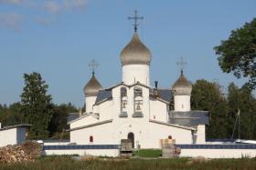
{"type": "Polygon", "coordinates": [[[13,29],[16,32],[21,30],[23,22],[23,15],[16,13],[2,13],[0,14],[0,27],[13,29]]]}

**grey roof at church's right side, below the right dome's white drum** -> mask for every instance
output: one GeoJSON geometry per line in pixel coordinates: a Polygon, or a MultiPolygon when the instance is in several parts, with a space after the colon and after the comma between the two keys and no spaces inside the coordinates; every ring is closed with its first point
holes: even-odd
{"type": "Polygon", "coordinates": [[[189,111],[176,112],[171,111],[169,122],[177,125],[208,125],[209,115],[208,111],[189,111]]]}

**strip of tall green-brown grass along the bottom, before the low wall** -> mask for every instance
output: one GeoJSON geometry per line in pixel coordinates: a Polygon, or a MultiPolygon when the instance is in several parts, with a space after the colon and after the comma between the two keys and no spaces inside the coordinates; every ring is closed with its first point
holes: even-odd
{"type": "Polygon", "coordinates": [[[171,170],[171,169],[256,169],[256,158],[213,159],[206,162],[191,162],[188,158],[174,159],[130,159],[117,160],[102,158],[98,160],[75,161],[70,156],[46,156],[32,163],[1,165],[0,170],[171,170]]]}

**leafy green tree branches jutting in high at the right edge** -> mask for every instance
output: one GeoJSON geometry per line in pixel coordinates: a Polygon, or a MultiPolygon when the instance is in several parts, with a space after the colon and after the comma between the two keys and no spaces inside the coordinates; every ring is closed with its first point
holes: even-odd
{"type": "Polygon", "coordinates": [[[231,31],[229,39],[214,49],[223,72],[231,72],[237,78],[248,77],[246,86],[256,88],[256,18],[231,31]]]}

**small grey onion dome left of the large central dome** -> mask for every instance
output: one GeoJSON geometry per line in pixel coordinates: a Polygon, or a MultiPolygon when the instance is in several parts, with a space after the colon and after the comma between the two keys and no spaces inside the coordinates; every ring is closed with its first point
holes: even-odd
{"type": "Polygon", "coordinates": [[[83,92],[85,96],[97,96],[99,91],[102,89],[101,84],[96,79],[94,73],[92,73],[91,79],[87,83],[87,85],[84,86],[83,92]]]}

